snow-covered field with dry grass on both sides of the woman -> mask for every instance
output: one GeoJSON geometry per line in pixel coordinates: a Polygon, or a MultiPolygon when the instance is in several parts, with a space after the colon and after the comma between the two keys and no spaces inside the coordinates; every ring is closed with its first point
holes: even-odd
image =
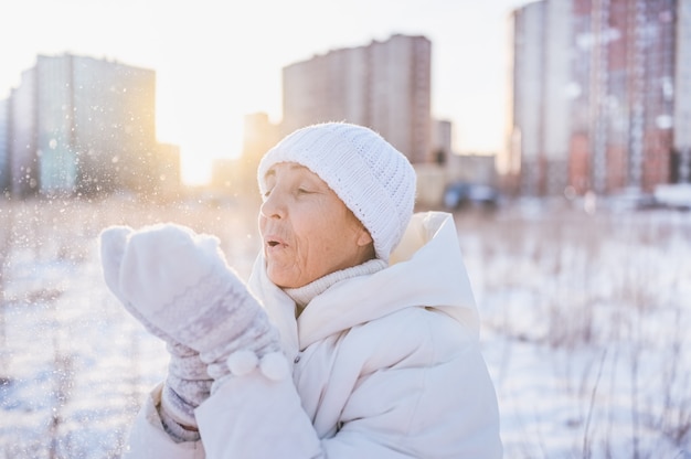
{"type": "MultiPolygon", "coordinates": [[[[162,342],[102,280],[100,230],[187,224],[246,276],[248,207],[0,200],[0,459],[118,458],[164,375],[162,342]]],[[[691,458],[691,213],[523,203],[456,220],[504,457],[691,458]]]]}

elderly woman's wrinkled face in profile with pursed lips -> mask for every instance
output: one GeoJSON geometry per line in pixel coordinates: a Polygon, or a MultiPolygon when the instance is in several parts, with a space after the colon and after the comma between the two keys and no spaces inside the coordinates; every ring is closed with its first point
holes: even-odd
{"type": "Polygon", "coordinates": [[[336,193],[309,169],[280,162],[268,170],[259,232],[269,279],[302,287],[374,257],[372,237],[336,193]]]}

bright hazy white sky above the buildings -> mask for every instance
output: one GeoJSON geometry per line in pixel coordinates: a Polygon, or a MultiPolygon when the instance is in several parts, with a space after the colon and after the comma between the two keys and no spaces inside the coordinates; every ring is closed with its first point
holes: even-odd
{"type": "Polygon", "coordinates": [[[157,73],[157,135],[199,181],[240,152],[243,116],[280,119],[281,68],[394,33],[432,41],[433,116],[456,151],[502,145],[509,14],[528,0],[22,0],[2,8],[0,98],[38,54],[106,57],[157,73]],[[196,167],[199,164],[199,167],[196,167]]]}

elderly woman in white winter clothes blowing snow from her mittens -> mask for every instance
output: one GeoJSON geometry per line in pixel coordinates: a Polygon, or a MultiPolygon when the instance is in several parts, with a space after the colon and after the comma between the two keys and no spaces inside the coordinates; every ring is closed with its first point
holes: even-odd
{"type": "Polygon", "coordinates": [[[136,458],[498,458],[497,398],[450,215],[372,130],[286,137],[258,168],[264,248],[245,286],[217,239],[102,234],[106,284],[170,352],[136,458]]]}

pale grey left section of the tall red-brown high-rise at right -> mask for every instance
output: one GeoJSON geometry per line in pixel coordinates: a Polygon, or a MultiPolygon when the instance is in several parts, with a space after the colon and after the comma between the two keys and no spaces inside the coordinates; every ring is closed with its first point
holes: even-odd
{"type": "Polygon", "coordinates": [[[513,14],[513,111],[520,188],[553,194],[566,186],[570,138],[570,0],[530,3],[513,14]]]}

